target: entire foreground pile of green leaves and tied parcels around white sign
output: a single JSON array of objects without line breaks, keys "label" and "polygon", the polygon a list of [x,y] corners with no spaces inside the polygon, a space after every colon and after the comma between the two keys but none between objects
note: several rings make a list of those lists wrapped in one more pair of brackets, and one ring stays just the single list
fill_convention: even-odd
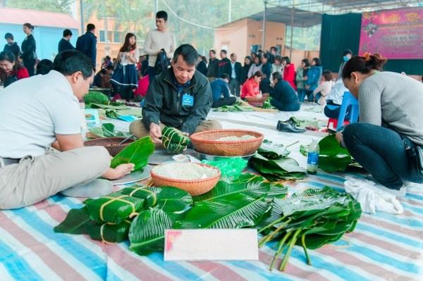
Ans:
[{"label": "entire foreground pile of green leaves and tied parcels around white sign", "polygon": [[104,243],[129,239],[131,251],[148,255],[164,250],[166,229],[255,227],[265,235],[260,246],[278,241],[272,267],[285,253],[283,269],[295,244],[317,249],[353,231],[360,218],[357,201],[329,187],[307,189],[290,199],[286,195],[283,185],[250,174],[220,181],[210,192],[195,197],[175,187],[135,185],[87,199],[54,230],[88,234]]}]

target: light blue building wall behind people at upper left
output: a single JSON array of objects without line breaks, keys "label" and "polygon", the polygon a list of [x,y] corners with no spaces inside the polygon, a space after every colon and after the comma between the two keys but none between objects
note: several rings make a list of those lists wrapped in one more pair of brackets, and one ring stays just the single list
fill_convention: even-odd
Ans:
[{"label": "light blue building wall behind people at upper left", "polygon": [[[65,30],[63,27],[35,26],[35,29],[32,31],[32,35],[35,38],[35,44],[37,46],[36,52],[40,60],[43,58],[54,60],[54,57],[58,52],[57,47],[59,45],[59,41],[63,37],[63,30]],[[71,29],[71,31],[73,33],[71,43],[75,46],[76,39],[78,38],[78,30]],[[25,33],[23,33],[23,25],[0,23],[0,36],[2,39],[4,39],[6,32],[13,34],[15,42],[17,42],[19,46],[22,45],[23,39],[26,37]],[[6,39],[4,39],[3,42],[6,44]],[[0,44],[0,46],[4,45]],[[3,50],[3,48],[0,49],[1,51]]]}]

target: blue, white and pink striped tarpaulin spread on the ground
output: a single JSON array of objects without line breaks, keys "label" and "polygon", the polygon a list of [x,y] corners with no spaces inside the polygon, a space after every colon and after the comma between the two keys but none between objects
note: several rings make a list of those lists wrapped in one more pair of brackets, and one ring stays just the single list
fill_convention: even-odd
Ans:
[{"label": "blue, white and pink striped tarpaulin spread on the ground", "polygon": [[[266,139],[291,144],[290,157],[305,166],[300,144],[312,137],[277,132],[267,127],[231,122],[221,114],[225,128],[263,132]],[[247,113],[244,113],[247,114]],[[257,113],[255,113],[257,114]],[[268,115],[265,119],[269,118]],[[280,117],[280,115],[277,115]],[[274,118],[274,124],[279,119]],[[240,118],[241,120],[242,118]],[[271,121],[269,121],[269,124]],[[343,192],[346,175],[364,178],[365,173],[307,175],[305,180],[286,182],[289,192],[325,185]],[[163,254],[138,256],[128,242],[102,244],[87,235],[55,233],[71,208],[83,206],[79,199],[52,196],[34,206],[0,211],[0,281],[7,280],[422,280],[423,187],[407,190],[399,199],[404,213],[398,216],[362,214],[354,232],[336,243],[310,250],[306,264],[302,248],[295,246],[285,272],[269,271],[274,243],[259,249],[259,261],[164,261]],[[281,263],[278,260],[276,266]],[[277,268],[277,267],[276,267]]]}]

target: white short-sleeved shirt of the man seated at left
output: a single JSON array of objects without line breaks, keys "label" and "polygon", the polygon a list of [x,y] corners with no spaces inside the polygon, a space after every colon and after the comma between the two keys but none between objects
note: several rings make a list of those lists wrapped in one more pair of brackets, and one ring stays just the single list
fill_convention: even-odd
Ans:
[{"label": "white short-sleeved shirt of the man seated at left", "polygon": [[44,155],[56,134],[80,134],[78,99],[68,80],[51,70],[0,92],[0,157]]}]

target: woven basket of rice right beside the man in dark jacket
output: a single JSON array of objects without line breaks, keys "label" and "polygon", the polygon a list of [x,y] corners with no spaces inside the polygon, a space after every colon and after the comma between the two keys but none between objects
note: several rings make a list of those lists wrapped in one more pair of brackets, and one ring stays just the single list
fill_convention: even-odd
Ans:
[{"label": "woven basket of rice right beside the man in dark jacket", "polygon": [[[221,137],[242,137],[252,135],[254,139],[234,141],[218,141]],[[195,150],[202,154],[214,156],[246,156],[254,154],[263,142],[264,135],[261,132],[249,130],[212,130],[197,132],[190,136]]]}]

